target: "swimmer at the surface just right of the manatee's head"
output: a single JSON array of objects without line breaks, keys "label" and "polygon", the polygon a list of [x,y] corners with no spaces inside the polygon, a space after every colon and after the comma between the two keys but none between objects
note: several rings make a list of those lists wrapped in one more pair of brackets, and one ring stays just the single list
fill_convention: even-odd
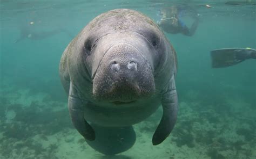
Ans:
[{"label": "swimmer at the surface just right of the manatee's head", "polygon": [[[181,20],[183,12],[188,12],[190,17],[194,20],[190,28],[188,28],[183,20]],[[198,13],[190,6],[171,6],[170,8],[161,9],[160,14],[161,20],[158,21],[158,25],[167,33],[181,33],[187,36],[192,36],[197,30],[199,21]]]}]

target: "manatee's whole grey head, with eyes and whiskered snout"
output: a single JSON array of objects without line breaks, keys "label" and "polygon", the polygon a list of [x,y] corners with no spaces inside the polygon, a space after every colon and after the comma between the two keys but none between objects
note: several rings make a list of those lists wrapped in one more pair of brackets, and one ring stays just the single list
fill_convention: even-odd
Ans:
[{"label": "manatee's whole grey head, with eyes and whiskered snout", "polygon": [[123,104],[154,95],[154,78],[163,66],[166,45],[150,18],[136,11],[113,10],[92,20],[81,35],[93,98]]}]

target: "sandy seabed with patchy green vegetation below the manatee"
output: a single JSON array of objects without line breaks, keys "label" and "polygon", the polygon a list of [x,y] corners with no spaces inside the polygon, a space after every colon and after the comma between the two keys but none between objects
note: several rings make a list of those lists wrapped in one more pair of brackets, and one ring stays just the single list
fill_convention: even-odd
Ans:
[{"label": "sandy seabed with patchy green vegetation below the manatee", "polygon": [[188,91],[179,101],[173,132],[159,146],[151,139],[159,109],[134,125],[134,146],[116,156],[93,150],[71,125],[67,104],[45,93],[4,86],[0,101],[0,158],[256,158],[256,109],[240,98],[200,100]]}]

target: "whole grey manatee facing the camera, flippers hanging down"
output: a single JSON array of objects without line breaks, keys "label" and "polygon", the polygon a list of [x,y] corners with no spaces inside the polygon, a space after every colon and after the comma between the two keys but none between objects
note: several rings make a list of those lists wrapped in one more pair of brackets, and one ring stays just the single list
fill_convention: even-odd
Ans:
[{"label": "whole grey manatee facing the camera, flippers hanging down", "polygon": [[[160,28],[129,9],[111,10],[93,19],[66,47],[59,66],[73,125],[104,154],[129,149],[135,141],[131,126],[160,105],[163,117],[153,145],[167,138],[177,119],[176,71],[176,52]],[[104,132],[104,127],[111,129],[106,133],[116,129],[116,136],[132,142],[119,145],[123,138],[111,139],[104,133],[98,138],[95,130]],[[121,127],[129,129],[127,134],[118,131]],[[106,144],[104,136],[118,142]],[[102,150],[102,145],[112,150]]]}]

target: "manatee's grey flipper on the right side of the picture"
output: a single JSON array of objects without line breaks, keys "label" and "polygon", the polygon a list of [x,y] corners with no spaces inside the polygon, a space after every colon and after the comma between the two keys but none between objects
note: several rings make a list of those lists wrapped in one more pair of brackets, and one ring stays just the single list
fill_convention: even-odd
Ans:
[{"label": "manatee's grey flipper on the right side of the picture", "polygon": [[161,104],[163,106],[163,117],[161,118],[156,132],[154,132],[152,139],[153,145],[157,145],[167,138],[177,120],[178,97],[174,77],[170,80],[169,87],[167,92],[163,95]]}]

